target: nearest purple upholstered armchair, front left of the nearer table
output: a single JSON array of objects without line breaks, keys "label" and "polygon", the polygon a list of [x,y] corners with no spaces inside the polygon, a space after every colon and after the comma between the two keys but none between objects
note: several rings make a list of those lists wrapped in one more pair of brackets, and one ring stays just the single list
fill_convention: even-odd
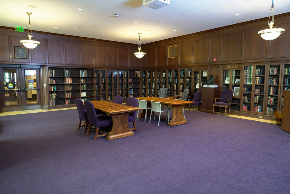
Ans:
[{"label": "nearest purple upholstered armchair, front left of the nearer table", "polygon": [[[85,101],[85,106],[87,110],[88,124],[89,124],[89,130],[88,130],[87,135],[89,135],[91,127],[94,126],[96,127],[96,134],[95,134],[94,140],[96,140],[97,137],[107,136],[108,134],[105,133],[104,131],[99,130],[99,127],[106,127],[106,126],[112,125],[113,124],[112,119],[109,117],[103,117],[103,116],[97,115],[93,103],[90,102],[89,100]],[[103,134],[98,135],[99,131],[101,131]]]}]

